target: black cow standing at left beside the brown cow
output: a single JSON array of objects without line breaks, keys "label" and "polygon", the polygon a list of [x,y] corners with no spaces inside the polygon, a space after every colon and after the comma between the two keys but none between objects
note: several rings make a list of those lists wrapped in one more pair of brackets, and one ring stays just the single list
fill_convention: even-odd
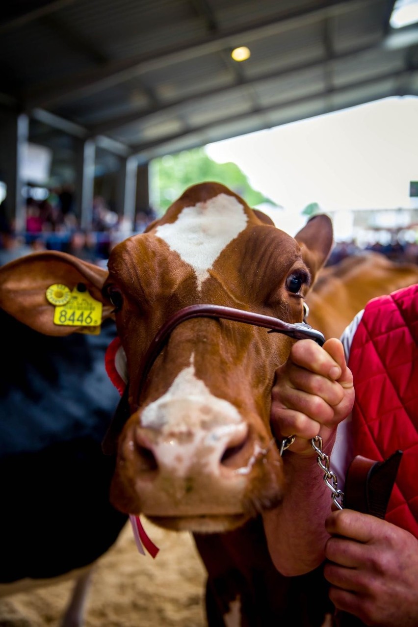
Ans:
[{"label": "black cow standing at left beside the brown cow", "polygon": [[115,324],[46,337],[0,311],[0,326],[0,596],[71,577],[61,625],[80,627],[92,565],[127,522],[101,446],[118,402],[104,362]]}]

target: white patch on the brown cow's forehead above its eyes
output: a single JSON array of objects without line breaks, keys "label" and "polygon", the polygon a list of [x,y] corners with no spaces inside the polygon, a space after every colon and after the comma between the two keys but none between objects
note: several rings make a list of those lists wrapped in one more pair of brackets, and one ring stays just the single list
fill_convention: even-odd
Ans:
[{"label": "white patch on the brown cow's forehead above its eyes", "polygon": [[218,194],[204,203],[184,207],[174,223],[160,225],[155,233],[192,266],[200,290],[209,277],[209,268],[247,222],[244,207],[234,196]]}]

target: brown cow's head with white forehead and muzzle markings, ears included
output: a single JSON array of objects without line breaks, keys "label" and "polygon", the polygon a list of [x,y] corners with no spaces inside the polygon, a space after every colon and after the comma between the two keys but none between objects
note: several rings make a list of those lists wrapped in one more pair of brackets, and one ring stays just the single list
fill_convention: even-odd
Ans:
[{"label": "brown cow's head with white forehead and muzzle markings, ears included", "polygon": [[0,305],[46,334],[51,283],[82,282],[114,316],[127,360],[128,419],[118,437],[113,504],[171,529],[233,529],[283,495],[283,465],[269,428],[276,368],[294,341],[220,318],[176,325],[144,372],[155,334],[197,303],[303,319],[303,298],[332,245],[326,216],[296,238],[224,186],[192,186],[147,232],[117,245],[108,272],[64,253],[0,269]]}]

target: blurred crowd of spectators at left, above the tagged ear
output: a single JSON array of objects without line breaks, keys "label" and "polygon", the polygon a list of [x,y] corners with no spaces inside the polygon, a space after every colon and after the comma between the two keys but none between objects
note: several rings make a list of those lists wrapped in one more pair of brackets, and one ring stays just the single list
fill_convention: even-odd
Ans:
[{"label": "blurred crowd of spectators at left, above the tagged ear", "polygon": [[91,229],[81,229],[74,211],[70,187],[51,192],[47,199],[26,201],[26,229],[16,233],[6,218],[6,206],[0,205],[0,265],[29,253],[58,250],[91,263],[102,264],[119,241],[142,233],[155,212],[138,212],[135,226],[113,211],[102,196],[93,199]]}]

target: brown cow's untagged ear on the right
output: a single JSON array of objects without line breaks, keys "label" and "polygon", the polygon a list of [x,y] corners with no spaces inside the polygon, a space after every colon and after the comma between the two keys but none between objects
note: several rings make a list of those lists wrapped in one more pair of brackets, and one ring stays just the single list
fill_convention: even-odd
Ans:
[{"label": "brown cow's untagged ear on the right", "polygon": [[325,214],[313,216],[295,235],[301,247],[303,261],[310,269],[312,279],[327,261],[333,245],[332,222]]}]

